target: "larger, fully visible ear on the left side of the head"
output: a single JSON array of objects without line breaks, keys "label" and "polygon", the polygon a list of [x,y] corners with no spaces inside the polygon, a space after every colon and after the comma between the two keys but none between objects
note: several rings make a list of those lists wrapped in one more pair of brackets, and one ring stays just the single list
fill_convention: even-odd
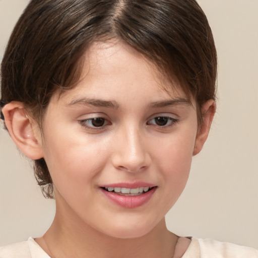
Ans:
[{"label": "larger, fully visible ear on the left side of the head", "polygon": [[2,108],[9,134],[17,147],[30,159],[43,157],[38,124],[26,113],[24,105],[12,101]]}]

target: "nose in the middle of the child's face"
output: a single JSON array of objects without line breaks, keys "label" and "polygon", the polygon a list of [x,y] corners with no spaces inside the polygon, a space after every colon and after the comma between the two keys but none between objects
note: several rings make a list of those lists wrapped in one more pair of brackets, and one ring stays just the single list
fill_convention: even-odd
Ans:
[{"label": "nose in the middle of the child's face", "polygon": [[123,128],[113,142],[112,164],[127,172],[139,172],[150,166],[148,141],[139,128]]}]

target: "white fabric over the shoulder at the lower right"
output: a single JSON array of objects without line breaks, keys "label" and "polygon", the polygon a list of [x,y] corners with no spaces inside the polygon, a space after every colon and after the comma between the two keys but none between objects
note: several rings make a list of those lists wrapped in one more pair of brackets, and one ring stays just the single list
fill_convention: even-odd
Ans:
[{"label": "white fabric over the shoulder at the lower right", "polygon": [[198,238],[192,238],[192,244],[199,249],[201,258],[258,258],[258,250],[247,246]]}]

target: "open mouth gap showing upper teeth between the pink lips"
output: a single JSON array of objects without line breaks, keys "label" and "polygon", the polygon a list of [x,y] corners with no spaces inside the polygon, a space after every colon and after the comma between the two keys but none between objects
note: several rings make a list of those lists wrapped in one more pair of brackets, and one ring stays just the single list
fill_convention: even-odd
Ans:
[{"label": "open mouth gap showing upper teeth between the pink lips", "polygon": [[153,188],[157,188],[157,186],[149,187],[149,186],[141,186],[137,188],[125,188],[125,187],[101,187],[107,192],[115,193],[116,195],[120,196],[140,196],[144,195],[144,193],[147,193],[148,191],[152,190]]}]

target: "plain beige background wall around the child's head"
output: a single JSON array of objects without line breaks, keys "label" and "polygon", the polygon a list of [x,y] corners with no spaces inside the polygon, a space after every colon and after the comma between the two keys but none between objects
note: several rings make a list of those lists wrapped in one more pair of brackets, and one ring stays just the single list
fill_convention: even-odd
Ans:
[{"label": "plain beige background wall around the child's head", "polygon": [[[0,58],[27,0],[0,0]],[[218,112],[184,193],[167,215],[179,235],[258,249],[258,0],[200,0],[219,57]],[[0,245],[41,235],[54,215],[29,162],[0,130]]]}]

